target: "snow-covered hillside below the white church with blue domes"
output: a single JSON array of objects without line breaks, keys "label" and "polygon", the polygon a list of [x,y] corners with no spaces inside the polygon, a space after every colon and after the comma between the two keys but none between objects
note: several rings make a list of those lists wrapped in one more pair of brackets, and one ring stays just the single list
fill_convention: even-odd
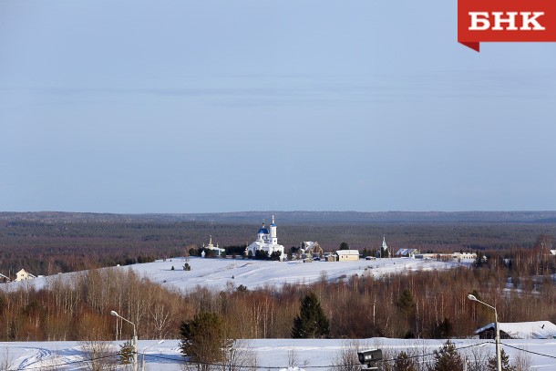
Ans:
[{"label": "snow-covered hillside below the white church with blue domes", "polygon": [[[190,271],[183,270],[185,263],[190,264]],[[242,284],[248,289],[254,289],[265,285],[281,286],[283,283],[314,283],[321,279],[337,281],[340,278],[348,278],[354,274],[372,274],[377,277],[383,274],[403,273],[405,271],[448,269],[458,264],[410,258],[303,263],[303,261],[267,262],[247,259],[191,257],[187,259],[172,258],[166,261],[107,269],[132,269],[149,277],[155,283],[170,285],[181,290],[193,289],[198,285],[213,290],[225,290],[229,284],[233,284],[235,287]],[[74,273],[61,275],[71,274]],[[51,279],[51,277],[38,277],[27,281],[25,284],[34,284],[36,287],[41,287],[48,279]],[[17,284],[21,283],[10,283],[9,285],[14,287]]]}]

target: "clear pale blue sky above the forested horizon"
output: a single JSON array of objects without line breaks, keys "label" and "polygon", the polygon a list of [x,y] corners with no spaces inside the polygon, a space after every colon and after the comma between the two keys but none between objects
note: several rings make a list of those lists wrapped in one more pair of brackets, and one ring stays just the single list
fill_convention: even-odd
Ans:
[{"label": "clear pale blue sky above the forested horizon", "polygon": [[0,211],[556,210],[555,61],[456,0],[0,0]]}]

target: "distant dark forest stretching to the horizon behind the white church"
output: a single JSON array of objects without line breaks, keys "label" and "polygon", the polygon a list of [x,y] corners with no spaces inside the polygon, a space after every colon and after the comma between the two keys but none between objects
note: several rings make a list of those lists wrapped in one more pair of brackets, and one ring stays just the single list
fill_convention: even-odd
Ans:
[{"label": "distant dark forest stretching to the horizon behind the white church", "polygon": [[[276,212],[278,242],[286,250],[317,241],[375,251],[383,236],[392,252],[497,251],[530,248],[540,235],[556,236],[556,212]],[[0,213],[0,273],[21,268],[66,273],[187,255],[209,242],[251,243],[272,213],[118,215],[63,212]],[[368,220],[368,222],[366,222]],[[351,222],[350,222],[351,221]]]}]

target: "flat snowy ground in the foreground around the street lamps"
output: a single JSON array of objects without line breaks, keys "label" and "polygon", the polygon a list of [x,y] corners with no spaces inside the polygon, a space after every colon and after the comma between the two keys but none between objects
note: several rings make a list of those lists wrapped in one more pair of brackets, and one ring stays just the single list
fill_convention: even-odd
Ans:
[{"label": "flat snowy ground in the foreground around the street lamps", "polygon": [[[326,370],[335,363],[335,358],[345,349],[350,340],[338,339],[258,339],[247,343],[249,349],[257,357],[257,370],[287,369],[288,359],[295,355],[297,362],[292,366],[299,369]],[[377,347],[396,355],[406,351],[419,354],[432,354],[444,343],[442,340],[400,340],[400,339],[363,339],[361,345]],[[454,344],[461,348],[461,353],[473,359],[471,352],[494,356],[494,345],[479,339],[455,339]],[[523,353],[510,346],[503,346],[510,356],[510,362],[516,356],[529,355],[530,366],[535,370],[556,370],[556,340],[504,340],[504,344],[526,349],[532,353]],[[121,342],[110,343],[111,350],[116,353]],[[476,345],[476,346],[475,346]],[[465,348],[465,349],[464,349]],[[142,354],[145,356],[145,370],[173,371],[180,370],[183,357],[180,356],[178,340],[167,340],[158,344],[156,340],[139,340],[139,369]],[[520,354],[520,355],[519,355]],[[548,356],[541,356],[548,355]],[[0,343],[0,368],[2,370],[77,370],[87,369],[85,361],[88,354],[83,352],[82,345],[77,342],[43,342],[43,343]],[[118,358],[115,358],[118,359]],[[125,369],[119,366],[118,369]],[[128,366],[128,369],[130,367]]]}]

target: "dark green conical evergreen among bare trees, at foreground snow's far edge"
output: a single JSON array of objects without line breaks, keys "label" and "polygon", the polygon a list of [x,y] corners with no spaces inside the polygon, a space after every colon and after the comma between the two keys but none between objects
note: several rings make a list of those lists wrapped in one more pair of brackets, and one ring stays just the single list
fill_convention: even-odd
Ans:
[{"label": "dark green conical evergreen among bare trees, at foreground snow's far edge", "polygon": [[293,338],[322,338],[329,334],[328,320],[316,294],[305,296],[299,311],[293,320]]}]

